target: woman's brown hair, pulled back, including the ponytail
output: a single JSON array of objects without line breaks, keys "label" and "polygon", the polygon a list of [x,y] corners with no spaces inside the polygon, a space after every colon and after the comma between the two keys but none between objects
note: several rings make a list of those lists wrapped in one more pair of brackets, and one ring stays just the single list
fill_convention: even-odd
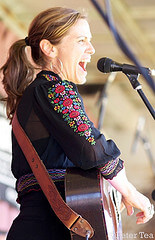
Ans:
[{"label": "woman's brown hair, pulled back, including the ponytail", "polygon": [[25,53],[26,45],[31,47],[31,55],[35,64],[44,68],[47,59],[39,47],[42,39],[49,40],[53,45],[60,43],[70,27],[80,18],[86,18],[80,12],[55,7],[39,13],[32,21],[28,37],[16,41],[9,50],[9,57],[4,66],[3,85],[7,97],[3,100],[7,102],[7,116],[12,120],[13,114],[21,99],[25,88],[32,82],[35,67],[28,61]]}]

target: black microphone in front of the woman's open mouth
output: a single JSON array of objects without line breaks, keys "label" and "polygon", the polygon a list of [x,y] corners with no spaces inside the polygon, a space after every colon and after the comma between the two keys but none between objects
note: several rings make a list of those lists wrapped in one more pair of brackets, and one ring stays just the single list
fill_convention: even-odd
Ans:
[{"label": "black microphone in front of the woman's open mouth", "polygon": [[[138,67],[129,65],[129,64],[121,64],[118,62],[113,61],[110,58],[101,58],[98,60],[97,68],[99,71],[103,73],[109,72],[123,72],[125,74],[141,74],[141,70]],[[142,67],[143,71],[149,75],[155,75],[155,69],[151,70],[150,68]]]}]

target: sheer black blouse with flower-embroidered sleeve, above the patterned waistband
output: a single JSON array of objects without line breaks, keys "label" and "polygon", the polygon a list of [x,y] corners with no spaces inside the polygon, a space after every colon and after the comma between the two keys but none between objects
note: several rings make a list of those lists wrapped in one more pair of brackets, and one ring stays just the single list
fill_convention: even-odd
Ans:
[{"label": "sheer black blouse with flower-embroidered sleeve, above the patterned waistband", "polygon": [[[123,168],[121,160],[114,166],[120,151],[89,120],[76,85],[53,72],[41,71],[26,88],[17,117],[47,169],[111,165],[112,178]],[[12,152],[14,176],[31,173],[13,134]]]}]

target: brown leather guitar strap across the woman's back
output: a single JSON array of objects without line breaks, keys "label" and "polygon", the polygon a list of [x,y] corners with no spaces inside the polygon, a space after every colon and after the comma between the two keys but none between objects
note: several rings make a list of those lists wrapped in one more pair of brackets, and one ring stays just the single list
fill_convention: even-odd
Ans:
[{"label": "brown leather guitar strap across the woman's back", "polygon": [[45,165],[41,161],[25,131],[19,124],[16,113],[12,120],[12,129],[34,176],[57,217],[69,230],[82,237],[91,238],[94,234],[93,228],[85,219],[74,212],[62,199],[54,182],[50,178]]}]

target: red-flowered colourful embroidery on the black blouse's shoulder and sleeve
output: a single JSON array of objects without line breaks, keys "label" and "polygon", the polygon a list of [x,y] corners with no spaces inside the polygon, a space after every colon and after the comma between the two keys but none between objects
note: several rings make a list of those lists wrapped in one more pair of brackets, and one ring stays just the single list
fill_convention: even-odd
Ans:
[{"label": "red-flowered colourful embroidery on the black blouse's shoulder and sleeve", "polygon": [[73,86],[68,81],[58,80],[52,75],[44,74],[43,76],[48,81],[57,80],[57,83],[53,83],[53,86],[48,89],[48,98],[54,105],[54,110],[62,114],[64,121],[74,132],[81,137],[84,136],[91,145],[95,145],[90,121],[81,107],[81,99],[73,90]]}]

